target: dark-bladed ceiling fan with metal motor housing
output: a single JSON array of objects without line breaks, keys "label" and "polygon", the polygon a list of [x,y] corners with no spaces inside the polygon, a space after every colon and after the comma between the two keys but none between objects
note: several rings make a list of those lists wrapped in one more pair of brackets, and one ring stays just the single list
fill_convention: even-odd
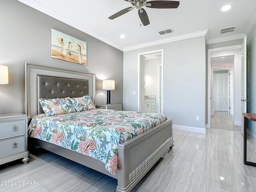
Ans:
[{"label": "dark-bladed ceiling fan with metal motor housing", "polygon": [[148,14],[143,6],[146,6],[148,8],[156,8],[156,9],[176,9],[180,5],[179,1],[149,1],[147,0],[125,0],[127,2],[130,2],[133,7],[125,8],[116,14],[109,17],[109,19],[115,19],[125,13],[128,13],[129,11],[133,10],[134,8],[138,9],[139,17],[144,26],[150,24],[148,19]]}]

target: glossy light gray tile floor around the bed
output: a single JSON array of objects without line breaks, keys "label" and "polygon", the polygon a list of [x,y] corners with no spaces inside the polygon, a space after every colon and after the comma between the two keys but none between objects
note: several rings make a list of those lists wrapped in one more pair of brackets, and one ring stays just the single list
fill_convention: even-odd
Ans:
[{"label": "glossy light gray tile floor around the bed", "polygon": [[[174,130],[174,147],[133,192],[255,192],[256,167],[243,164],[240,132]],[[45,150],[0,166],[0,181],[36,181],[36,186],[0,186],[1,192],[114,192],[117,180]]]}]

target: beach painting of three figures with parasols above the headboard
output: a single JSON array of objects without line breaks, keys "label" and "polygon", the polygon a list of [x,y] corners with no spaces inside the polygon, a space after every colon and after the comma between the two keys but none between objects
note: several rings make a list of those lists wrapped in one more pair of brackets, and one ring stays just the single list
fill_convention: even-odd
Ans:
[{"label": "beach painting of three figures with parasols above the headboard", "polygon": [[52,29],[52,58],[87,65],[86,42]]}]

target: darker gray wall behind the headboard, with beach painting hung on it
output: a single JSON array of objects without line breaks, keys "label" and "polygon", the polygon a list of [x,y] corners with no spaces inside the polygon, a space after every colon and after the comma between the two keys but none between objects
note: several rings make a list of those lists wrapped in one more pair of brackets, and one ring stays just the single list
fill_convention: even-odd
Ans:
[{"label": "darker gray wall behind the headboard, with beach painting hung on it", "polygon": [[[95,73],[96,104],[106,103],[102,80],[116,80],[111,102],[122,104],[122,51],[16,0],[0,0],[0,13],[0,65],[9,67],[9,84],[0,85],[0,113],[23,112],[23,62]],[[51,58],[51,28],[87,42],[88,66]]]}]

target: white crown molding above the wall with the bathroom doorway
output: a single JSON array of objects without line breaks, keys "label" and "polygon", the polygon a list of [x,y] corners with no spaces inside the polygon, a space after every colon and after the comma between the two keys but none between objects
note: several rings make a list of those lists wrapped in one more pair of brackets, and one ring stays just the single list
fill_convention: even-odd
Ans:
[{"label": "white crown molding above the wall with the bathroom doorway", "polygon": [[125,47],[124,51],[130,51],[130,50],[135,50],[135,49],[139,49],[139,48],[174,42],[174,41],[178,41],[178,40],[184,40],[184,39],[188,39],[188,38],[204,36],[204,35],[206,35],[207,32],[208,32],[208,29],[194,32],[194,33],[188,33],[188,34],[184,34],[184,35],[165,38],[165,39],[161,39],[161,40],[156,40],[156,41],[152,41],[152,42],[148,42],[148,43],[142,43],[142,44],[138,44],[138,45],[134,45],[134,46]]}]

